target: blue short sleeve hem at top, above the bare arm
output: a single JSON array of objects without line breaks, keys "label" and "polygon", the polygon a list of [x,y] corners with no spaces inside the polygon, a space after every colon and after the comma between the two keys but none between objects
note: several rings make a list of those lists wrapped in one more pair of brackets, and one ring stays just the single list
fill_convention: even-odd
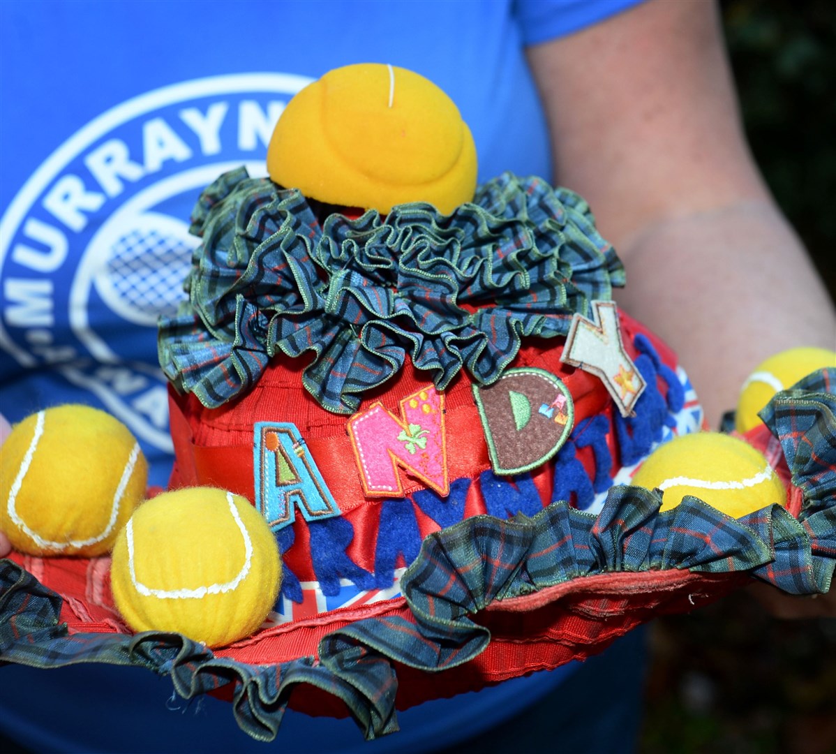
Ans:
[{"label": "blue short sleeve hem at top, above the bare arm", "polygon": [[645,0],[516,0],[523,43],[538,44],[592,26]]}]

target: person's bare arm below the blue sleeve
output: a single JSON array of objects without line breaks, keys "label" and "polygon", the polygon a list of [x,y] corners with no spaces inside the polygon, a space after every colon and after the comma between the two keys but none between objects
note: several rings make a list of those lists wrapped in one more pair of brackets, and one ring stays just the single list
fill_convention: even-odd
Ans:
[{"label": "person's bare arm below the blue sleeve", "polygon": [[627,268],[618,295],[680,354],[712,427],[836,315],[747,148],[714,3],[650,0],[529,49],[555,176],[589,201]]}]

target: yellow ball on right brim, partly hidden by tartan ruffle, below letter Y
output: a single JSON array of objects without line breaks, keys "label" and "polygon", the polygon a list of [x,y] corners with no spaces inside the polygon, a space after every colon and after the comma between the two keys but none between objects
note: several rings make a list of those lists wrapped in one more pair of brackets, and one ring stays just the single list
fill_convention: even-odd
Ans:
[{"label": "yellow ball on right brim, partly hidden by tartan ruffle, below letter Y", "polygon": [[662,491],[665,511],[686,495],[732,518],[772,503],[786,506],[787,491],[760,451],[737,437],[698,432],[675,437],[640,466],[633,484]]}]

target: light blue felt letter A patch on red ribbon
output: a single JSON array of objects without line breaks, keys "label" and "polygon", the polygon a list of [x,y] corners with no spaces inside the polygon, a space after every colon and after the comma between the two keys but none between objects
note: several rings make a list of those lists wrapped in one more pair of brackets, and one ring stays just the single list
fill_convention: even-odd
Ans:
[{"label": "light blue felt letter A patch on red ribbon", "polygon": [[254,430],[255,502],[273,532],[295,521],[296,507],[307,522],[339,516],[339,506],[296,425],[259,421]]}]

